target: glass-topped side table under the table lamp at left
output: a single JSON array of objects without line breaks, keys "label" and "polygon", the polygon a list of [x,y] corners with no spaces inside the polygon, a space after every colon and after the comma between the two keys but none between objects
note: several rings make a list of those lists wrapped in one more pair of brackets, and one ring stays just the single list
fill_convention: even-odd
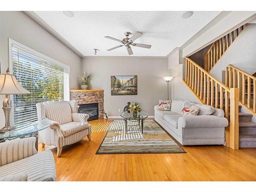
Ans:
[{"label": "glass-topped side table under the table lamp at left", "polygon": [[50,123],[46,122],[33,122],[18,129],[14,129],[5,133],[0,133],[0,142],[5,142],[6,140],[12,140],[16,138],[25,137],[36,137],[36,150],[38,150],[38,132],[46,129],[50,126]]}]

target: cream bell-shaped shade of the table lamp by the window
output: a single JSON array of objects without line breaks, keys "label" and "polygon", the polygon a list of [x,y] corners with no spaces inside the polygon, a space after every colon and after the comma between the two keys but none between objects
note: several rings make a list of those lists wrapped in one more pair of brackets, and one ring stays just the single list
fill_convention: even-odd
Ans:
[{"label": "cream bell-shaped shade of the table lamp by the window", "polygon": [[16,77],[11,74],[0,74],[0,94],[30,94],[29,91],[20,86]]}]

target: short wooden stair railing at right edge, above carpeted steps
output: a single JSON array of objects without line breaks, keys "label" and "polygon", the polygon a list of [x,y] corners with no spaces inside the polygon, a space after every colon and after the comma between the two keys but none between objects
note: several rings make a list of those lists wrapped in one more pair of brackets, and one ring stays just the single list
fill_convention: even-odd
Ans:
[{"label": "short wooden stair railing at right edge, above carpeted steps", "polygon": [[225,84],[229,88],[239,88],[239,101],[251,112],[256,113],[256,77],[228,65]]}]

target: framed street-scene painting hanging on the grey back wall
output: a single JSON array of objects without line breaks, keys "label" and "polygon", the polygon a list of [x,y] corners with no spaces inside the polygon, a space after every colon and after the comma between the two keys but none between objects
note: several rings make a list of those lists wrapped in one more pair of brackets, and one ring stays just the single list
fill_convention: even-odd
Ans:
[{"label": "framed street-scene painting hanging on the grey back wall", "polygon": [[111,76],[111,95],[137,95],[137,75]]}]

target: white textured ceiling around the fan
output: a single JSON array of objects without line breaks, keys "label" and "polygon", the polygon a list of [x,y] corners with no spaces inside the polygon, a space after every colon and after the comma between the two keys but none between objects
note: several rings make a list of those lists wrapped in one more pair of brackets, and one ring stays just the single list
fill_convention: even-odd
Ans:
[{"label": "white textured ceiling around the fan", "polygon": [[83,56],[94,55],[94,48],[99,49],[99,56],[128,56],[125,47],[106,51],[120,43],[104,38],[108,35],[122,39],[125,31],[143,33],[135,42],[152,45],[151,49],[132,47],[132,56],[166,56],[220,12],[195,11],[187,19],[181,17],[184,11],[74,11],[74,17],[62,11],[34,13]]}]

